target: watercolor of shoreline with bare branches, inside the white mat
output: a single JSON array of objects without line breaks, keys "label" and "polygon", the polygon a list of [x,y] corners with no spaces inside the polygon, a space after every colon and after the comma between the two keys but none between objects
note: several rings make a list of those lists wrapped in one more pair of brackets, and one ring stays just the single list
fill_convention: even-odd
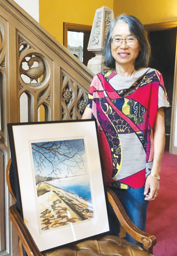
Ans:
[{"label": "watercolor of shoreline with bare branches, inside the white mat", "polygon": [[93,218],[84,139],[32,142],[41,230]]}]

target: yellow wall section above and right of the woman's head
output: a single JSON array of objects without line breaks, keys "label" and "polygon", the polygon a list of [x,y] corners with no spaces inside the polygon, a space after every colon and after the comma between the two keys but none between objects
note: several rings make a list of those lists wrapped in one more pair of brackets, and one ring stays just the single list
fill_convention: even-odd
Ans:
[{"label": "yellow wall section above and right of the woman's head", "polygon": [[177,20],[177,0],[114,0],[114,16],[134,15],[142,24]]}]

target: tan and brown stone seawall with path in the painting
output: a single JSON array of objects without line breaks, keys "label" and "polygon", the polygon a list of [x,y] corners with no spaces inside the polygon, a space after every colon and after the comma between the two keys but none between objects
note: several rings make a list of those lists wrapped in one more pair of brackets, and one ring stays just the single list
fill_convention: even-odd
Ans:
[{"label": "tan and brown stone seawall with path in the painting", "polygon": [[93,218],[92,202],[62,188],[37,185],[42,231]]}]

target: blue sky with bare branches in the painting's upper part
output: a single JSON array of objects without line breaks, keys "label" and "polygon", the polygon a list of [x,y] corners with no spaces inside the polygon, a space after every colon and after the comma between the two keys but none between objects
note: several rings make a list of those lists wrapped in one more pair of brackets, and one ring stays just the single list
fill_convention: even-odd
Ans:
[{"label": "blue sky with bare branches in the painting's upper part", "polygon": [[83,139],[33,142],[31,148],[35,175],[64,178],[88,173]]}]

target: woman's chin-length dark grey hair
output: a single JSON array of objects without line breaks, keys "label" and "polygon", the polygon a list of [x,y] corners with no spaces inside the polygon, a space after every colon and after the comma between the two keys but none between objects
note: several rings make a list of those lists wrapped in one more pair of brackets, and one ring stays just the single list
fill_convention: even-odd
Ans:
[{"label": "woman's chin-length dark grey hair", "polygon": [[102,53],[104,57],[104,65],[108,68],[115,68],[115,59],[112,57],[111,53],[111,39],[112,31],[120,20],[128,24],[130,32],[138,38],[141,46],[141,51],[135,60],[135,69],[146,68],[150,62],[150,44],[146,38],[145,29],[139,19],[135,16],[126,14],[121,14],[110,24],[107,40],[104,44]]}]

